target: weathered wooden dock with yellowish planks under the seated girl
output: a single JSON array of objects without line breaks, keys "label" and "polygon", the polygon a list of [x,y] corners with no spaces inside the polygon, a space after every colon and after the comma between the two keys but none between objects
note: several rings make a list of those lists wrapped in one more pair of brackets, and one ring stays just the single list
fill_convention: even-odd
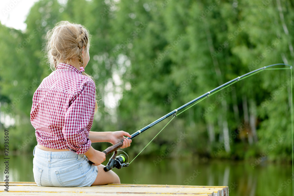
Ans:
[{"label": "weathered wooden dock with yellowish planks under the seated girl", "polygon": [[0,182],[0,195],[201,195],[228,196],[227,186],[108,184],[91,187],[38,187],[35,182]]}]

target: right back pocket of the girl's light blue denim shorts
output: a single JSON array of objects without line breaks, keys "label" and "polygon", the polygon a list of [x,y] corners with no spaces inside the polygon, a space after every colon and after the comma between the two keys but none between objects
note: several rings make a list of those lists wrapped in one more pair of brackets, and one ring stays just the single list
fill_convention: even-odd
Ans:
[{"label": "right back pocket of the girl's light blue denim shorts", "polygon": [[56,171],[55,173],[59,183],[63,187],[78,187],[86,180],[82,163],[65,170]]}]

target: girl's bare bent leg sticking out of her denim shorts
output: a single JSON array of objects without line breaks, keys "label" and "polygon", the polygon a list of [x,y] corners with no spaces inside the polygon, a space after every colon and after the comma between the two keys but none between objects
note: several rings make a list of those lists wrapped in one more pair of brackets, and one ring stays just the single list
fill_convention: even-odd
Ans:
[{"label": "girl's bare bent leg sticking out of her denim shorts", "polygon": [[121,181],[116,173],[112,170],[105,172],[104,165],[98,165],[98,175],[92,185],[120,184]]}]

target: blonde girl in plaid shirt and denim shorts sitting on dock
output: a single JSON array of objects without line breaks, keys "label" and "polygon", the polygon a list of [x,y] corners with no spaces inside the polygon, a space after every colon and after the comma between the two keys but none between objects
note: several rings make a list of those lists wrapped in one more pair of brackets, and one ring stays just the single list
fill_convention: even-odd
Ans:
[{"label": "blonde girl in plaid shirt and denim shorts sitting on dock", "polygon": [[[33,172],[38,186],[81,187],[120,183],[103,170],[105,154],[92,142],[112,144],[131,135],[124,131],[90,131],[97,111],[95,83],[84,73],[89,62],[90,35],[80,24],[58,23],[48,32],[47,57],[53,71],[33,96],[31,124],[38,145]],[[125,138],[123,146],[130,146]],[[86,158],[87,157],[87,158]],[[90,165],[88,160],[94,164]]]}]

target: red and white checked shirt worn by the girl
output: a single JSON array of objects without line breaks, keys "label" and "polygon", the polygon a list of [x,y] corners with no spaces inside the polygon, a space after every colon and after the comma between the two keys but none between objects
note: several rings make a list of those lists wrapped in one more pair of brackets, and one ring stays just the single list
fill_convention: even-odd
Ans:
[{"label": "red and white checked shirt worn by the girl", "polygon": [[86,153],[95,110],[95,83],[77,68],[59,63],[33,97],[31,124],[37,142],[48,148]]}]

